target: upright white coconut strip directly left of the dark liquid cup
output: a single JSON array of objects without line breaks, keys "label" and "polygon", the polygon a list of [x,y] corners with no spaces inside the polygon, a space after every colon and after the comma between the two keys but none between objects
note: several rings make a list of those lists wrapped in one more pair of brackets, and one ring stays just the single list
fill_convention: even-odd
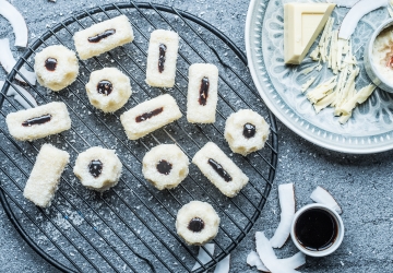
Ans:
[{"label": "upright white coconut strip directly left of the dark liquid cup", "polygon": [[291,222],[295,216],[295,190],[294,183],[278,186],[278,199],[281,206],[279,224],[271,238],[273,248],[282,248],[289,238]]}]

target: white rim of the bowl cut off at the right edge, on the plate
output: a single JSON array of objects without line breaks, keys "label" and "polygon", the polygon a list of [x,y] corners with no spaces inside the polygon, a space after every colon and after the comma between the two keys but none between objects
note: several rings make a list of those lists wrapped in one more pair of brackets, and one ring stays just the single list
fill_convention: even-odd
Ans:
[{"label": "white rim of the bowl cut off at the right edge, on the plate", "polygon": [[[386,20],[383,22],[372,34],[369,43],[367,44],[365,50],[365,68],[370,80],[381,90],[384,90],[389,93],[393,93],[393,84],[388,82],[384,76],[378,71],[372,60],[372,49],[377,36],[385,28],[393,26],[393,19]],[[393,71],[392,71],[393,72]]]}]

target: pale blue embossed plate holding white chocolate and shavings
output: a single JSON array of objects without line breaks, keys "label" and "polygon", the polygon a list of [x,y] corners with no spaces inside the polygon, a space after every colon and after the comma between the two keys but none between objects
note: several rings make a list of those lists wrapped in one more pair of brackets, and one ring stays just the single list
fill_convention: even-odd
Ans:
[{"label": "pale blue embossed plate holding white chocolate and shavings", "polygon": [[[354,110],[353,117],[344,126],[333,116],[332,108],[315,114],[312,105],[300,92],[300,85],[311,76],[317,76],[310,87],[312,88],[331,78],[333,73],[324,64],[320,72],[313,71],[303,75],[301,72],[305,69],[315,64],[309,57],[300,66],[284,64],[285,2],[290,0],[251,0],[248,10],[247,58],[252,79],[264,103],[295,133],[322,147],[353,154],[377,153],[393,149],[392,94],[377,88],[366,103]],[[346,8],[335,8],[333,12],[335,28],[340,27],[337,22],[341,22],[347,12]],[[353,50],[360,67],[360,74],[356,80],[357,90],[371,83],[362,64],[365,45],[373,29],[388,19],[388,10],[378,9],[359,22],[352,36]]]}]

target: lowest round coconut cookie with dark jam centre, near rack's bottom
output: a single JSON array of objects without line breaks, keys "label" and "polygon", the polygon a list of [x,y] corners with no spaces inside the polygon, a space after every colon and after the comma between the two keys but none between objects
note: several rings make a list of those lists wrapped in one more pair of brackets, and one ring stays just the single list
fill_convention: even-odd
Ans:
[{"label": "lowest round coconut cookie with dark jam centre, near rack's bottom", "polygon": [[203,246],[216,237],[219,216],[206,202],[191,201],[184,204],[176,217],[178,235],[189,245]]}]

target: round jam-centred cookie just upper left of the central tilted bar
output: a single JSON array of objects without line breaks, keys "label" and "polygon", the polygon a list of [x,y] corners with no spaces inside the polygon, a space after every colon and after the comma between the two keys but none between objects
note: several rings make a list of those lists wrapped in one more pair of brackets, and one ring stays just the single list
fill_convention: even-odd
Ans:
[{"label": "round jam-centred cookie just upper left of the central tilted bar", "polygon": [[88,100],[104,112],[120,109],[130,98],[130,79],[117,68],[94,71],[86,84]]}]

